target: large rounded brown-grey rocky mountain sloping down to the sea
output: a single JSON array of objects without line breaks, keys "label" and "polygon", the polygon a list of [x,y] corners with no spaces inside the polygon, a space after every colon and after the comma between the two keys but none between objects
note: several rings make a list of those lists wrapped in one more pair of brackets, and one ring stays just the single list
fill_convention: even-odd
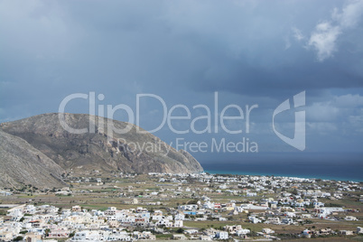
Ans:
[{"label": "large rounded brown-grey rocky mountain sloping down to the sea", "polygon": [[[4,123],[1,129],[23,138],[64,169],[138,173],[203,171],[191,154],[176,151],[150,133],[137,133],[134,125],[79,114],[64,114],[64,118],[68,126],[77,129],[88,128],[91,122],[95,132],[71,134],[61,126],[59,114],[44,114]],[[132,129],[123,135],[109,135],[107,123],[111,121],[118,129],[127,125]]]}]

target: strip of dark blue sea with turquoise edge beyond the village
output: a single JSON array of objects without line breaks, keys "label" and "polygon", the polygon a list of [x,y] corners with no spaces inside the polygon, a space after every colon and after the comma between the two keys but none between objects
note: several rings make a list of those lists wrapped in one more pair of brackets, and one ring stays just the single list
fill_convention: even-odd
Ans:
[{"label": "strip of dark blue sea with turquoise edge beyond the village", "polygon": [[363,153],[260,153],[200,161],[205,172],[363,181]]}]

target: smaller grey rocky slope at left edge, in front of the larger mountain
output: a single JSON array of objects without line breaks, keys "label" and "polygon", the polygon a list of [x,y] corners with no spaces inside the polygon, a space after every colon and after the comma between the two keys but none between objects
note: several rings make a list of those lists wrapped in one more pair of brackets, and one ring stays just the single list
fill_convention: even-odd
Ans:
[{"label": "smaller grey rocky slope at left edge, in front of the larger mountain", "polygon": [[0,187],[66,186],[61,180],[64,170],[25,140],[0,130]]}]

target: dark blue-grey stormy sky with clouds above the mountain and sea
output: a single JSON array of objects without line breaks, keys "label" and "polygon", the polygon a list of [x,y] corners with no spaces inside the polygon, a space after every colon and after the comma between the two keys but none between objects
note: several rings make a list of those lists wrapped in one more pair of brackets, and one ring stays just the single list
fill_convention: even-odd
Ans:
[{"label": "dark blue-grey stormy sky with clouds above the mountain and sea", "polygon": [[[161,126],[154,135],[199,160],[239,159],[248,149],[211,147],[244,138],[258,153],[362,152],[362,0],[0,1],[0,34],[0,122],[58,112],[67,96],[94,92],[105,110],[130,107],[131,119],[121,109],[112,117],[135,123],[137,95],[153,94],[159,99],[139,98],[138,125]],[[304,105],[294,108],[302,92]],[[163,124],[160,99],[172,116],[188,109],[191,118]],[[275,116],[274,130],[286,99],[291,108]],[[221,124],[228,105],[224,116],[242,110],[244,118]],[[208,114],[200,106],[210,122],[192,122]],[[65,111],[89,113],[88,100],[73,99]],[[293,138],[302,127],[295,111],[305,112],[302,150],[275,134]],[[209,147],[193,152],[188,142]]]}]

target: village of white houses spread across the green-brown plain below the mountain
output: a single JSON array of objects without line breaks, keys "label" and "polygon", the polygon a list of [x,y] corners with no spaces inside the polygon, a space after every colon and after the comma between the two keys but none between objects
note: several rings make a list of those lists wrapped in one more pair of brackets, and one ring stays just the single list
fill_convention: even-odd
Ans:
[{"label": "village of white houses spread across the green-brown plain below the mountain", "polygon": [[363,238],[355,181],[98,171],[64,181],[1,190],[0,241]]}]

